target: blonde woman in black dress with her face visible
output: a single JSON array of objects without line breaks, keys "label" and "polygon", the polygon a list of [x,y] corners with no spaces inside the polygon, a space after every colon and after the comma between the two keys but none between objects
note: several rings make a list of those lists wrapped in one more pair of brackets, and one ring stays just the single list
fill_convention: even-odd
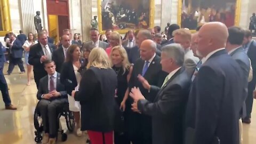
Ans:
[{"label": "blonde woman in black dress with her face visible", "polygon": [[[125,102],[129,95],[128,82],[130,81],[132,74],[132,65],[130,64],[127,53],[122,46],[115,46],[112,48],[110,59],[112,68],[116,71],[117,74],[117,89],[115,93],[115,100],[118,108],[115,118],[115,127],[124,127],[123,130],[115,129],[115,143],[125,144],[129,143],[125,133],[128,128],[126,123]],[[122,113],[122,111],[124,111],[124,113]],[[122,120],[122,117],[124,117],[124,121]]]}]

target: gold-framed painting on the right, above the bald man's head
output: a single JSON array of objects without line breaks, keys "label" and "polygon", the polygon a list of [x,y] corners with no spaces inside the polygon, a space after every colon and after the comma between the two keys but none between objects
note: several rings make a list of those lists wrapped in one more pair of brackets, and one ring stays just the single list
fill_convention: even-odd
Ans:
[{"label": "gold-framed painting on the right, above the bald man's head", "polygon": [[238,26],[240,10],[241,0],[179,0],[178,24],[190,30],[211,21]]}]

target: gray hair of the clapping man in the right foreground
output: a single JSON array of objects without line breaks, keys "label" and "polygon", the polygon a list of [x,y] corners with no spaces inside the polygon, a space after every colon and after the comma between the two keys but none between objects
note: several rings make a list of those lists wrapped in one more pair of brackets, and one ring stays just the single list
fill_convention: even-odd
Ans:
[{"label": "gray hair of the clapping man in the right foreground", "polygon": [[162,47],[162,52],[172,58],[178,66],[183,66],[185,50],[180,44],[169,44]]}]

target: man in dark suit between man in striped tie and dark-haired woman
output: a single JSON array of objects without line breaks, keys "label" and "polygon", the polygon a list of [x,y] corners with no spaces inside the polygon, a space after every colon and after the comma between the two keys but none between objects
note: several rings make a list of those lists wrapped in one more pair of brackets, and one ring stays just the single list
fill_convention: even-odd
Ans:
[{"label": "man in dark suit between man in striped tie and dark-haired woman", "polygon": [[55,62],[56,71],[61,72],[62,64],[67,57],[68,47],[70,45],[70,39],[68,35],[63,35],[60,39],[61,45],[56,51],[52,53],[52,60]]}]

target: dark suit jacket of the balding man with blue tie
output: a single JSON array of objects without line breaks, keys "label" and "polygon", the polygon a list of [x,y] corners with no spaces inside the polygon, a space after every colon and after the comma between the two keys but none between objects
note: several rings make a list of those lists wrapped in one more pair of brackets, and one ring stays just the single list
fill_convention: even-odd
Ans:
[{"label": "dark suit jacket of the balding man with blue tie", "polygon": [[[156,55],[153,61],[150,63],[144,77],[150,85],[156,85],[161,87],[167,73],[162,71],[162,66],[160,64],[161,59]],[[141,93],[149,101],[153,102],[156,95],[149,94],[148,90],[144,89],[142,84],[138,81],[137,76],[142,74],[142,69],[144,67],[145,61],[138,59],[133,66],[133,71],[129,81],[129,90],[131,91],[132,87],[139,87]],[[143,139],[146,141],[151,141],[151,117],[147,115],[141,115],[131,111],[130,107],[133,103],[133,99],[130,97],[127,99],[127,110],[129,113],[129,137],[138,137],[140,133],[143,134]]]}]

